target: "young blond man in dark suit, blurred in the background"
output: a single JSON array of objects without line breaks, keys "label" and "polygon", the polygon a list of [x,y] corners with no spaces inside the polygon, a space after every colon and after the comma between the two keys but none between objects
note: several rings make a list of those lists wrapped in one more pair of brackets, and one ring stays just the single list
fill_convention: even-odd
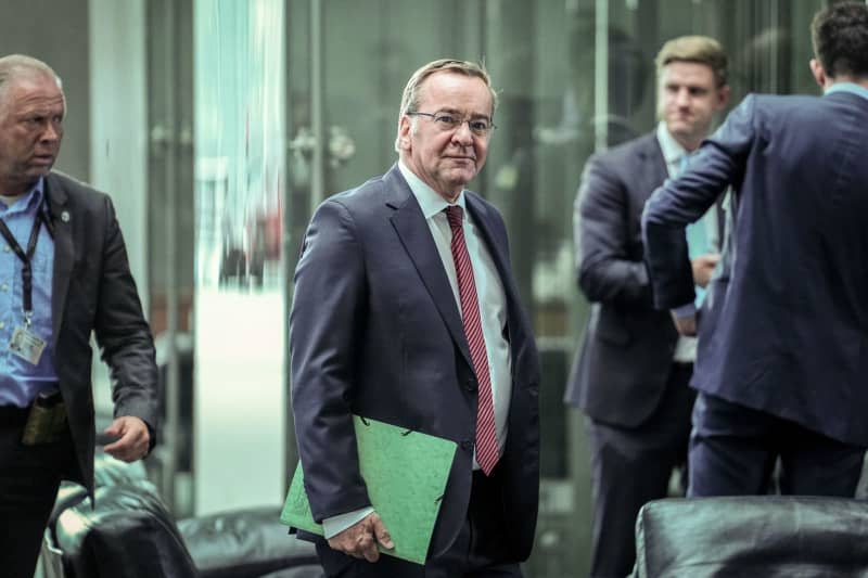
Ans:
[{"label": "young blond man in dark suit, blurred in the background", "polygon": [[[565,400],[588,416],[596,578],[630,573],[636,515],[667,494],[690,432],[695,344],[679,341],[668,316],[653,308],[639,219],[651,192],[680,170],[726,105],[727,57],[715,40],[687,36],[666,42],[656,65],[656,130],[593,155],[575,204],[578,285],[592,305]],[[699,232],[719,237],[720,220],[710,211]],[[704,286],[716,243],[706,239],[693,249],[693,282]]]}]

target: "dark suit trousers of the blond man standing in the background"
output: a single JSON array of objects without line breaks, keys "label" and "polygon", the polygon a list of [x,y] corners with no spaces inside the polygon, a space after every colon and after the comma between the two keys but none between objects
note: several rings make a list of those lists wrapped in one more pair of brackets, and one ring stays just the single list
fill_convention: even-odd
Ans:
[{"label": "dark suit trousers of the blond man standing in the background", "polygon": [[[592,578],[623,578],[636,562],[636,516],[668,496],[673,470],[687,462],[692,364],[673,363],[658,408],[637,427],[588,419],[593,527]],[[625,402],[629,402],[628,400]]]}]

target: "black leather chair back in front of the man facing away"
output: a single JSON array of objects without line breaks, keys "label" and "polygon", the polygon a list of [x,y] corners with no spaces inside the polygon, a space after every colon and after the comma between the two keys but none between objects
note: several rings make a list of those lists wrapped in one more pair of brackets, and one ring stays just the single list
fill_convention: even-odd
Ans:
[{"label": "black leather chair back in front of the man facing away", "polygon": [[671,498],[636,522],[634,578],[868,577],[868,502]]}]

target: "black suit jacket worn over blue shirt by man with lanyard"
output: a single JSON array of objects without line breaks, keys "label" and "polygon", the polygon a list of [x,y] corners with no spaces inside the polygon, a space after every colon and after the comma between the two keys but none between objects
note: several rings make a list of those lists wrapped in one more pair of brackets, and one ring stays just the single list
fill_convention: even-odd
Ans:
[{"label": "black suit jacket worn over blue shirt by man with lanyard", "polygon": [[54,237],[51,345],[76,451],[71,477],[92,494],[91,333],[111,369],[115,416],[144,420],[152,444],[157,383],[154,344],[111,198],[58,172],[50,172],[44,184]]}]

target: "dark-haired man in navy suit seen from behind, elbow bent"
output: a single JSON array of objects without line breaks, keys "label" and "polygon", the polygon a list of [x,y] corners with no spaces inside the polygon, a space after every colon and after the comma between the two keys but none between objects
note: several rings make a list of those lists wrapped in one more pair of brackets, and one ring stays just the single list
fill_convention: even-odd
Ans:
[{"label": "dark-haired man in navy suit seen from behind, elbow bent", "polygon": [[[654,304],[694,334],[690,496],[853,497],[868,446],[868,7],[819,12],[825,95],[749,95],[649,201]],[[730,240],[697,323],[685,226],[732,187]]]}]

